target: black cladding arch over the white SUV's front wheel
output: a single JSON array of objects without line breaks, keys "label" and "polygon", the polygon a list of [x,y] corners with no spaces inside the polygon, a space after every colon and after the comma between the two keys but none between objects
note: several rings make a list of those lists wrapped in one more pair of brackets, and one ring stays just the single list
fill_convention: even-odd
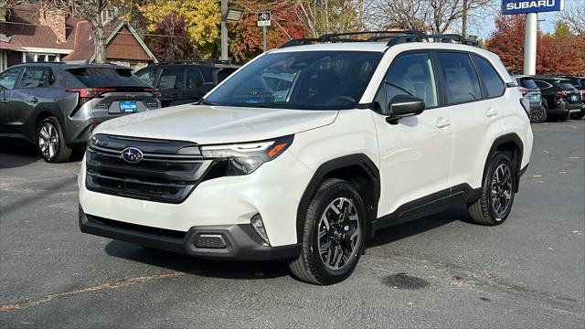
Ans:
[{"label": "black cladding arch over the white SUV's front wheel", "polygon": [[362,197],[367,211],[367,237],[372,237],[372,222],[378,214],[380,175],[376,164],[366,154],[350,154],[321,164],[306,186],[296,214],[297,241],[303,241],[306,208],[322,182],[328,178],[343,179],[354,186]]}]

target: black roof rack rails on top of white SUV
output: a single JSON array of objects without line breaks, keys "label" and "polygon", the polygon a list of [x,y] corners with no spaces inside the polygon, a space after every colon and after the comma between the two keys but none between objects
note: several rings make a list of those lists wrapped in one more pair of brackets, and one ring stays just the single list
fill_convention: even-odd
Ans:
[{"label": "black roof rack rails on top of white SUV", "polygon": [[[367,38],[352,38],[354,36],[375,35]],[[314,43],[335,43],[335,42],[375,42],[388,40],[388,47],[396,46],[407,42],[445,42],[460,43],[462,45],[481,48],[479,40],[462,37],[457,34],[430,35],[420,31],[362,31],[346,33],[329,33],[321,37],[291,39],[279,48],[311,45]]]}]

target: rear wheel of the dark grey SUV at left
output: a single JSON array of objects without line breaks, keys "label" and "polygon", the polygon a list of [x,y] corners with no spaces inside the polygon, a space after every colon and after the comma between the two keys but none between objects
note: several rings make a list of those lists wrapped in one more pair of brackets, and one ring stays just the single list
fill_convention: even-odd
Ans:
[{"label": "rear wheel of the dark grey SUV at left", "polygon": [[38,152],[48,163],[60,163],[69,160],[73,150],[65,144],[63,130],[57,118],[48,117],[37,124]]}]

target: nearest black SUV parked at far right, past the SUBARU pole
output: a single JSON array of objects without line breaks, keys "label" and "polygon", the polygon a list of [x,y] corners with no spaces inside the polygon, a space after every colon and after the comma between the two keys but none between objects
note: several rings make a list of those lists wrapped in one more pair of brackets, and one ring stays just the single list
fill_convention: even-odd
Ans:
[{"label": "nearest black SUV parked at far right, past the SUBARU pole", "polygon": [[570,80],[535,76],[534,81],[545,100],[548,118],[565,120],[569,118],[569,113],[581,111],[579,90],[570,84]]}]

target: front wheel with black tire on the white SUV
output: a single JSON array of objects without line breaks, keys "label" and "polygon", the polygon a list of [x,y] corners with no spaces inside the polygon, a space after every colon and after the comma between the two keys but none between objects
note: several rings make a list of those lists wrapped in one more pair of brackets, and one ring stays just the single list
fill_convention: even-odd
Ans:
[{"label": "front wheel with black tire on the white SUV", "polygon": [[[338,203],[335,205],[336,201]],[[335,212],[339,210],[341,213],[337,215]],[[326,225],[322,218],[325,218]],[[334,224],[335,220],[340,220],[339,224]],[[355,238],[351,239],[350,233]],[[361,196],[346,181],[328,179],[319,186],[307,208],[303,250],[298,258],[290,260],[291,271],[299,280],[314,284],[327,285],[344,281],[356,269],[364,249],[365,237],[366,207]],[[324,246],[327,246],[323,249],[326,251],[322,253]]]}]

